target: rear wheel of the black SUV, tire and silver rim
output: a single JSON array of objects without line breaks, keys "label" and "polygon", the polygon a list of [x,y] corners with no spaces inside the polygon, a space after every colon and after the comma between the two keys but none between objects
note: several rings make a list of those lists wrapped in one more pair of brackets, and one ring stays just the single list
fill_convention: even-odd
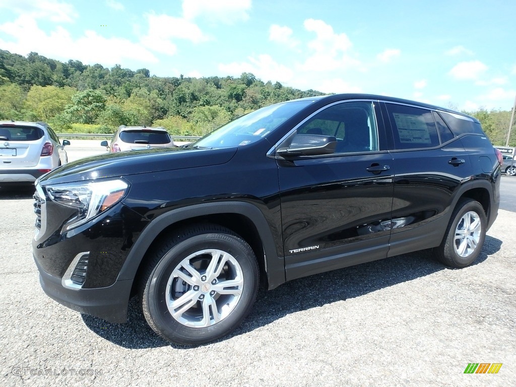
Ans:
[{"label": "rear wheel of the black SUV, tire and silver rim", "polygon": [[455,268],[471,265],[480,254],[486,229],[486,213],[480,203],[473,199],[459,200],[451,214],[443,241],[436,248],[439,261]]}]

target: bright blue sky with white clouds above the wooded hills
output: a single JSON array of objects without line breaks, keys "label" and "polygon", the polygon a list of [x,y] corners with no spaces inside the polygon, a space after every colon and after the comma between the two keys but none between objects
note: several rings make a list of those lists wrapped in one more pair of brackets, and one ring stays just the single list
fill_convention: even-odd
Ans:
[{"label": "bright blue sky with white clouds above the wooded hills", "polygon": [[515,18],[509,0],[0,0],[0,49],[510,110]]}]

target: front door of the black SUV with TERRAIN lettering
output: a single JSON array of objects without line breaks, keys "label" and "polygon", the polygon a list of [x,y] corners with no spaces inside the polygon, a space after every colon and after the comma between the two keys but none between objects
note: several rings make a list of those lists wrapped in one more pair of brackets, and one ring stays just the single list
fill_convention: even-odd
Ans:
[{"label": "front door of the black SUV with TERRAIN lettering", "polygon": [[287,279],[356,264],[361,251],[362,262],[386,256],[394,164],[372,106],[342,103],[298,128],[335,136],[338,153],[278,160]]}]

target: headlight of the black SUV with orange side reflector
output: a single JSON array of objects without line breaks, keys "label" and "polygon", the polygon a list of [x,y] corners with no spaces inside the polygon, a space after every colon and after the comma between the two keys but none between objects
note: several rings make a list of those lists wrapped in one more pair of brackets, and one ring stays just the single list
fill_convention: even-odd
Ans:
[{"label": "headlight of the black SUV with orange side reflector", "polygon": [[65,183],[46,187],[53,202],[74,208],[78,214],[67,222],[63,231],[71,230],[118,203],[129,185],[123,180],[105,180],[91,183]]}]

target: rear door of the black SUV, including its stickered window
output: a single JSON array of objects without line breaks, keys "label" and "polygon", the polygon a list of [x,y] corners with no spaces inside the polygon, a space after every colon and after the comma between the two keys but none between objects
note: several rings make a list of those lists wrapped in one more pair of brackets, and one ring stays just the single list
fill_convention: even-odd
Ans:
[{"label": "rear door of the black SUV, including its stickered window", "polygon": [[[385,105],[396,148],[391,152],[396,170],[392,256],[441,243],[453,192],[470,175],[471,165],[460,140],[445,137],[447,128],[438,131],[431,110]],[[442,141],[448,142],[441,146]]]}]

